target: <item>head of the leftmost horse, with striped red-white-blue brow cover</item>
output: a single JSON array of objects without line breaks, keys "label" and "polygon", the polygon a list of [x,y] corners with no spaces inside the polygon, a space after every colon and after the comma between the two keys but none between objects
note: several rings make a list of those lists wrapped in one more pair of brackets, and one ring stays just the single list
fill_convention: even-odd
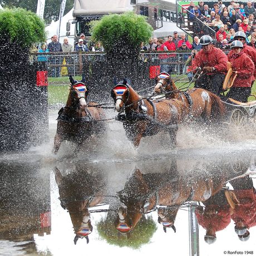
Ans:
[{"label": "head of the leftmost horse, with striped red-white-blue brow cover", "polygon": [[72,103],[77,105],[78,109],[81,111],[85,111],[87,106],[85,99],[88,95],[88,90],[85,86],[84,76],[81,81],[75,81],[73,80],[73,77],[70,76],[70,83],[70,95]]}]

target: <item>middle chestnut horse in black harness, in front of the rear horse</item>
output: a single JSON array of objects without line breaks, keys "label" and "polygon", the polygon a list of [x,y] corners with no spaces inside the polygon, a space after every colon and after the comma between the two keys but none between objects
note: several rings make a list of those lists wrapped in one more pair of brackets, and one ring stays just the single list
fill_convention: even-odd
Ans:
[{"label": "middle chestnut horse in black harness, in front of the rear horse", "polygon": [[142,137],[156,135],[160,131],[169,132],[171,146],[176,146],[178,124],[185,121],[189,112],[184,102],[142,99],[126,80],[116,85],[111,96],[116,111],[119,114],[125,112],[123,126],[135,147],[139,146]]}]

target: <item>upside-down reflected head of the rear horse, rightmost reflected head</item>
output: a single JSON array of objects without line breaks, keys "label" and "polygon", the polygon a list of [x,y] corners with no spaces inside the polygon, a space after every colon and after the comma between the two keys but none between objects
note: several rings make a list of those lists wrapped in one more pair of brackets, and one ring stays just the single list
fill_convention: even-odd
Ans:
[{"label": "upside-down reflected head of the rear horse, rightmost reflected head", "polygon": [[172,228],[176,233],[176,228],[174,227],[174,221],[176,219],[178,210],[179,210],[179,206],[177,205],[160,207],[157,209],[158,223],[163,225],[165,233],[166,233],[166,228]]}]

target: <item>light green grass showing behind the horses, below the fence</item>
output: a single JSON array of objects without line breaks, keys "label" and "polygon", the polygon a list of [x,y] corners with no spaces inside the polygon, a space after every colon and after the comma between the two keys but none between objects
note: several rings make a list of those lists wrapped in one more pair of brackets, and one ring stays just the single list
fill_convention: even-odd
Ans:
[{"label": "light green grass showing behind the horses, below the fence", "polygon": [[[76,79],[81,80],[82,77],[76,77]],[[66,104],[70,88],[70,81],[68,80],[68,77],[49,77],[48,83],[49,85],[54,85],[48,86],[48,104]],[[184,83],[185,82],[175,82],[178,88],[183,87]],[[188,83],[186,83],[186,86],[188,86]],[[194,84],[192,83],[190,87],[194,87]],[[256,95],[255,83],[252,88],[252,94]],[[255,97],[253,96],[248,98],[248,101],[254,100]]]}]

